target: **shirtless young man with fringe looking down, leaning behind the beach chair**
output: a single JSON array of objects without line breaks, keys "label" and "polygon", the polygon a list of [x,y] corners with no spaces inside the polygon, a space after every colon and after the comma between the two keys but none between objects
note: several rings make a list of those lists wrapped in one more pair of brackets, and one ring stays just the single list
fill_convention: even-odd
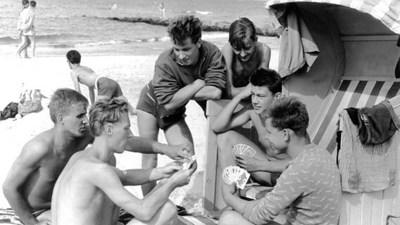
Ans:
[{"label": "shirtless young man with fringe looking down, leaning behind the beach chair", "polygon": [[227,66],[227,98],[233,98],[249,85],[254,70],[269,68],[271,49],[257,41],[256,28],[248,18],[239,18],[230,25],[228,40],[222,53]]}]

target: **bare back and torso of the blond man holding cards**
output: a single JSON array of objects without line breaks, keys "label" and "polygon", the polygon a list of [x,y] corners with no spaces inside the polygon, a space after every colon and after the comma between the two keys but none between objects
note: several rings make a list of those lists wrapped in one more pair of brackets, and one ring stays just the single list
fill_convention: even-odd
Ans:
[{"label": "bare back and torso of the blond man holding cards", "polygon": [[111,167],[89,157],[87,150],[73,155],[54,187],[53,224],[115,224],[120,208],[92,183],[93,172]]}]

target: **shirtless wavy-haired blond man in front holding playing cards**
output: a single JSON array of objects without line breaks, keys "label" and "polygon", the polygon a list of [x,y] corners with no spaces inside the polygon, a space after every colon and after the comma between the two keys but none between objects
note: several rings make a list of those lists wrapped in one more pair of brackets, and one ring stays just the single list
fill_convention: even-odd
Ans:
[{"label": "shirtless wavy-haired blond man in front holding playing cards", "polygon": [[[118,98],[96,102],[89,112],[92,147],[70,159],[54,187],[53,224],[115,225],[120,207],[135,216],[129,224],[175,224],[177,211],[168,200],[177,187],[189,183],[192,169],[167,165],[155,169],[115,168],[114,153],[123,153],[130,131],[127,103]],[[169,178],[169,179],[165,179]],[[163,179],[145,198],[123,186]]]}]

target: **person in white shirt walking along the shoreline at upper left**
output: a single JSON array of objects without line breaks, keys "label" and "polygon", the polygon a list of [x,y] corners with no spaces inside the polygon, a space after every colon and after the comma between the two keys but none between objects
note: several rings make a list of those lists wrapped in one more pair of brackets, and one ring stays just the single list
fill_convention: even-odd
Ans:
[{"label": "person in white shirt walking along the shoreline at upper left", "polygon": [[27,48],[28,39],[32,44],[32,57],[35,57],[35,27],[33,25],[33,20],[35,20],[35,8],[36,1],[30,1],[29,7],[23,10],[20,14],[20,35],[21,35],[21,43],[17,48],[17,57],[19,58],[21,51]]}]

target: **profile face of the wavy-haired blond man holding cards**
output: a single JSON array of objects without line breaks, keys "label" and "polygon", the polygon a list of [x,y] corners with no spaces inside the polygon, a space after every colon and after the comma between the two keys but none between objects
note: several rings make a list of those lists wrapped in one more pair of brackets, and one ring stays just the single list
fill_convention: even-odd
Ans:
[{"label": "profile face of the wavy-haired blond man holding cards", "polygon": [[133,134],[130,130],[130,119],[127,113],[121,115],[120,121],[112,124],[113,135],[112,144],[115,146],[116,153],[123,153],[125,146],[127,145],[127,140],[130,139]]}]

